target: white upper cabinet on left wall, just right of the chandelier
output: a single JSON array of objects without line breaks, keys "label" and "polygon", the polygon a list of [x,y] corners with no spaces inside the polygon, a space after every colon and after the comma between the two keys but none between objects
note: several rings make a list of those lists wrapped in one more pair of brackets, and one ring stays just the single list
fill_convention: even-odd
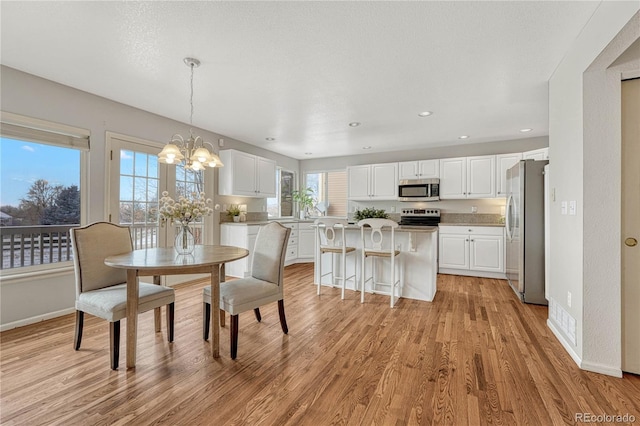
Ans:
[{"label": "white upper cabinet on left wall, just right of the chandelier", "polygon": [[218,194],[269,198],[276,196],[276,162],[235,149],[220,151]]}]

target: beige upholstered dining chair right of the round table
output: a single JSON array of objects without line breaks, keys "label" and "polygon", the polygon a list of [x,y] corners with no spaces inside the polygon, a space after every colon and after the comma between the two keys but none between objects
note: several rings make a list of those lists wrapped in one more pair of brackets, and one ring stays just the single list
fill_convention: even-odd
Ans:
[{"label": "beige upholstered dining chair right of the round table", "polygon": [[[284,334],[289,333],[284,314],[284,258],[289,241],[290,228],[277,222],[264,225],[258,231],[253,248],[251,276],[238,280],[220,283],[220,309],[229,312],[231,324],[229,335],[231,340],[231,359],[238,354],[238,315],[253,309],[258,322],[262,320],[260,306],[278,302],[280,326]],[[203,337],[209,338],[211,319],[211,286],[205,287],[203,301]],[[217,311],[213,312],[218,314]]]}]

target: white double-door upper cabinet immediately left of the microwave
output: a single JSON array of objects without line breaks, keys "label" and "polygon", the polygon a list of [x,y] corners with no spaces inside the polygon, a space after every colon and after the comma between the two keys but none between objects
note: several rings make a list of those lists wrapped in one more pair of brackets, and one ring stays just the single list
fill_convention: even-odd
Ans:
[{"label": "white double-door upper cabinet immediately left of the microwave", "polygon": [[398,163],[366,164],[347,168],[350,200],[398,198]]}]

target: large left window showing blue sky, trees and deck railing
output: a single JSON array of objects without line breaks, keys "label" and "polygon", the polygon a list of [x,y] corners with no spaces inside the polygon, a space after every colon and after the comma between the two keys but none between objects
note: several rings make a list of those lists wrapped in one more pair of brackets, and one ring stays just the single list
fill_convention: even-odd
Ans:
[{"label": "large left window showing blue sky, trees and deck railing", "polygon": [[1,125],[0,269],[70,262],[69,229],[85,214],[89,132],[4,112]]}]

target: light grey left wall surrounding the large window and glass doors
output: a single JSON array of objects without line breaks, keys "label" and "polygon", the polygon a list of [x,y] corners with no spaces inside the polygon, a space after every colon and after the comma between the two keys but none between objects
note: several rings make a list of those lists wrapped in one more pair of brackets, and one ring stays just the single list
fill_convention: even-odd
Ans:
[{"label": "light grey left wall surrounding the large window and glass doors", "polygon": [[[105,220],[107,153],[105,132],[111,131],[156,141],[159,146],[174,133],[185,133],[189,126],[168,118],[91,95],[55,82],[2,66],[0,69],[2,111],[63,123],[91,131],[89,153],[88,222]],[[170,100],[168,100],[170,102]],[[187,108],[187,105],[185,105]],[[214,142],[224,138],[225,148],[233,148],[276,160],[278,165],[298,170],[298,161],[202,129],[196,133]],[[214,177],[216,176],[216,177]],[[208,179],[217,183],[217,172]],[[217,186],[214,186],[217,189]],[[209,194],[208,194],[209,195]],[[214,196],[214,202],[219,202]],[[213,215],[212,241],[219,241],[218,215]],[[6,271],[5,271],[6,272]],[[72,312],[75,300],[72,268],[58,274],[20,279],[0,277],[0,330],[51,317],[52,313]],[[12,271],[15,272],[15,271]]]}]

